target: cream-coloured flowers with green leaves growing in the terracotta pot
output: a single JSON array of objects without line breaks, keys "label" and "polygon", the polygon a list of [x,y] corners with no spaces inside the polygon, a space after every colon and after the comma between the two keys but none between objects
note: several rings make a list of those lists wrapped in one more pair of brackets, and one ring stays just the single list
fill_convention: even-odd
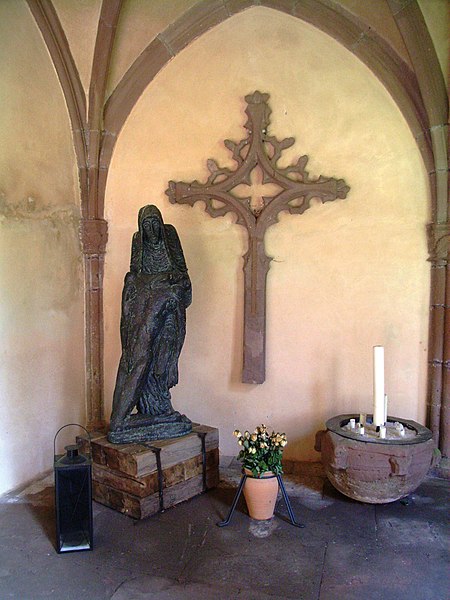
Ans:
[{"label": "cream-coloured flowers with green leaves growing in the terracotta pot", "polygon": [[266,471],[272,471],[275,475],[283,472],[281,459],[287,444],[284,433],[272,431],[269,435],[267,427],[261,425],[253,433],[245,431],[242,434],[236,429],[234,435],[241,446],[238,459],[245,469],[252,472],[253,477],[261,477]]}]

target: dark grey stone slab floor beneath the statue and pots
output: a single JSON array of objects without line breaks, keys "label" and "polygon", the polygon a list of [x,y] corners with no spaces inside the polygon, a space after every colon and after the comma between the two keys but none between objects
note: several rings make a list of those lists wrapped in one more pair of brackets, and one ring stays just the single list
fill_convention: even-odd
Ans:
[{"label": "dark grey stone slab floor beneath the statue and pots", "polygon": [[216,527],[239,468],[220,487],[134,522],[94,504],[93,552],[54,549],[51,477],[0,498],[0,598],[37,600],[446,600],[448,482],[428,478],[409,503],[354,502],[319,465],[285,476],[296,518],[252,521],[244,502]]}]

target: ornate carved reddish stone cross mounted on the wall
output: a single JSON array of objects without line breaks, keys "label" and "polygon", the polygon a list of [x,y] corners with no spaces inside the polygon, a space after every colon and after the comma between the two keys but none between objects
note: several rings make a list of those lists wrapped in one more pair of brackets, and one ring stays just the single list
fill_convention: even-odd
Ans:
[{"label": "ornate carved reddish stone cross mounted on the wall", "polygon": [[234,171],[207,161],[210,176],[206,183],[170,181],[166,194],[172,203],[194,205],[199,200],[212,217],[227,212],[237,215],[237,223],[248,232],[244,256],[244,383],[265,380],[266,276],[271,257],[264,250],[264,235],[280,211],[302,214],[312,198],[322,202],[345,198],[349,191],[343,179],[310,179],[305,170],[307,156],[295,165],[279,168],[281,153],[294,144],[294,138],[278,141],[267,133],[271,110],[269,94],[254,92],[245,97],[248,136],[238,143],[225,140],[237,163]]}]

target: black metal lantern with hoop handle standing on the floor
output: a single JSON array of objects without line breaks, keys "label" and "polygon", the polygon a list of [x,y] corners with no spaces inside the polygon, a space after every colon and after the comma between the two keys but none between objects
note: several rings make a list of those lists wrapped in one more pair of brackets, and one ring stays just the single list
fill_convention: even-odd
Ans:
[{"label": "black metal lantern with hoop handle standing on the floor", "polygon": [[[65,427],[77,426],[89,438],[89,454],[82,454],[77,444],[65,446],[66,454],[55,452],[56,437]],[[56,550],[75,552],[93,549],[92,460],[89,432],[77,423],[64,425],[53,440],[55,470]]]}]

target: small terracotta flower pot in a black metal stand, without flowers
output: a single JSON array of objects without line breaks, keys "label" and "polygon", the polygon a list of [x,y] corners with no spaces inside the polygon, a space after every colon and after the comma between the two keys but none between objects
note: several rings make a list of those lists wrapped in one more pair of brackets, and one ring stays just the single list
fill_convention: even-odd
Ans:
[{"label": "small terracotta flower pot in a black metal stand, without flowers", "polygon": [[272,471],[261,477],[253,477],[252,472],[244,469],[247,479],[244,485],[244,497],[252,519],[263,521],[271,519],[275,510],[278,494],[278,479]]}]

